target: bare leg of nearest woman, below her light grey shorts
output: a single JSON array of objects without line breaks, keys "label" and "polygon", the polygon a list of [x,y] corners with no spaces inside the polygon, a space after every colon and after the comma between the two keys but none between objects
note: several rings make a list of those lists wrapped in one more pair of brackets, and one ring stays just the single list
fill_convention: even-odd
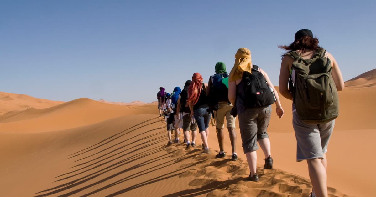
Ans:
[{"label": "bare leg of nearest woman, below her light grey shorts", "polygon": [[321,158],[308,159],[308,173],[317,197],[327,197],[326,170]]}]

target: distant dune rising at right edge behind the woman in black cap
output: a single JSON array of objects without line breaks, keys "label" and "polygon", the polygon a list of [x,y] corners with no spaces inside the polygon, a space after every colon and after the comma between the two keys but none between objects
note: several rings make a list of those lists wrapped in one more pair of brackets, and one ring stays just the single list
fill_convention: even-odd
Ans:
[{"label": "distant dune rising at right edge behind the woman in black cap", "polygon": [[376,69],[365,72],[357,77],[345,82],[345,86],[350,89],[362,87],[376,87]]}]

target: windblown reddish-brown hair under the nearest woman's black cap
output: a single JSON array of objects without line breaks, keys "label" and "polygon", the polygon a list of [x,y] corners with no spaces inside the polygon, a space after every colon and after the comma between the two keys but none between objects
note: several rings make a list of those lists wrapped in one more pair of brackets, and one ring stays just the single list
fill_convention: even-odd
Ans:
[{"label": "windblown reddish-brown hair under the nearest woman's black cap", "polygon": [[[278,48],[284,49],[288,52],[301,50],[301,54],[304,54],[307,49],[316,51],[320,49],[321,47],[318,46],[317,38],[312,38],[310,36],[303,36],[302,38],[300,38],[297,41],[294,41],[288,46],[282,45],[282,46],[278,46]],[[281,57],[284,58],[285,55],[286,53],[283,54]]]}]

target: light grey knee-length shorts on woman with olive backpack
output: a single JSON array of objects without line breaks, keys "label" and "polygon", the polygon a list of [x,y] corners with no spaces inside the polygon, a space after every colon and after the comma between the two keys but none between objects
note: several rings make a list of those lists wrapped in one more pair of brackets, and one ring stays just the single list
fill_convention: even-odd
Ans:
[{"label": "light grey knee-length shorts on woman with olive backpack", "polygon": [[334,121],[310,123],[300,120],[296,111],[293,112],[293,127],[297,143],[296,161],[323,158],[333,133]]}]

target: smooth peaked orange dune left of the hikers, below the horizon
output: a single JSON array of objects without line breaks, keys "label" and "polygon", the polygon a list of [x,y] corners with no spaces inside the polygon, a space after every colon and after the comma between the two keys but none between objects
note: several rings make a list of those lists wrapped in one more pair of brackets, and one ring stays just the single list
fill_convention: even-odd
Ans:
[{"label": "smooth peaked orange dune left of the hikers, below the horizon", "polygon": [[89,125],[127,114],[158,114],[156,105],[112,105],[80,98],[44,109],[29,108],[0,116],[2,131],[43,132]]}]

